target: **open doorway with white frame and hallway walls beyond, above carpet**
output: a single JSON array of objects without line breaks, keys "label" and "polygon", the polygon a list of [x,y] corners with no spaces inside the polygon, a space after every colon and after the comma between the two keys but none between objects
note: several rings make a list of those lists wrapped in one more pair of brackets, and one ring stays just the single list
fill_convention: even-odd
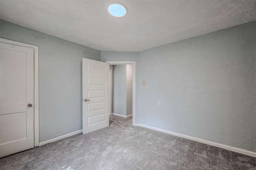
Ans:
[{"label": "open doorway with white frame and hallway walls beyond, above carpet", "polygon": [[106,61],[110,65],[110,114],[131,117],[136,124],[136,62]]}]

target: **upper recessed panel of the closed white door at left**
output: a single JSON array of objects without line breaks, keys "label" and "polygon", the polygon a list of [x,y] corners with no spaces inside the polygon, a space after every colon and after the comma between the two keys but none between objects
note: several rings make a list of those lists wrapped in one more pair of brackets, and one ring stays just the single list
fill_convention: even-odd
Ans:
[{"label": "upper recessed panel of the closed white door at left", "polygon": [[26,53],[2,49],[1,43],[1,73],[1,104],[26,103]]}]

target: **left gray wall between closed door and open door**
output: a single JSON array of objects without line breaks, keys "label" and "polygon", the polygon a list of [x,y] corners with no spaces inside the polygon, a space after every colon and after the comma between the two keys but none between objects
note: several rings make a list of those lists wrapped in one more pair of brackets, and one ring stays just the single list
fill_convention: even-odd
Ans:
[{"label": "left gray wall between closed door and open door", "polygon": [[82,129],[82,58],[100,51],[3,20],[0,37],[39,47],[40,142]]}]

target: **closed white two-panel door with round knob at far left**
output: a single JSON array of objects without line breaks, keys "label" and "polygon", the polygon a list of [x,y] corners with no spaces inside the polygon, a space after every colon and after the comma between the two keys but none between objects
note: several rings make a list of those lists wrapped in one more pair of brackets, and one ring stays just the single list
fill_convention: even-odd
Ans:
[{"label": "closed white two-panel door with round knob at far left", "polygon": [[34,49],[1,43],[0,157],[33,147]]}]

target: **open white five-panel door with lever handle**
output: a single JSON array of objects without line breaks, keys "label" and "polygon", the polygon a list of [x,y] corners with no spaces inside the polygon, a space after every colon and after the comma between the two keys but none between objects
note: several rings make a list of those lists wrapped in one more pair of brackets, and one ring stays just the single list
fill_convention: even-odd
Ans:
[{"label": "open white five-panel door with lever handle", "polygon": [[109,64],[84,59],[83,74],[83,134],[109,125]]}]

